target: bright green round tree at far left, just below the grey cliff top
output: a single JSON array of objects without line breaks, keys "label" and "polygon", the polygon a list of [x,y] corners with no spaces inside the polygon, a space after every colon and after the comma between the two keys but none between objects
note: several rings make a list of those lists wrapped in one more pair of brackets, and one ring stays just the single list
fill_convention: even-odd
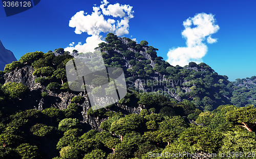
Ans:
[{"label": "bright green round tree at far left, just below the grey cliff top", "polygon": [[7,82],[3,86],[4,92],[8,94],[11,98],[19,98],[22,97],[24,94],[29,92],[29,88],[22,83],[16,82]]}]

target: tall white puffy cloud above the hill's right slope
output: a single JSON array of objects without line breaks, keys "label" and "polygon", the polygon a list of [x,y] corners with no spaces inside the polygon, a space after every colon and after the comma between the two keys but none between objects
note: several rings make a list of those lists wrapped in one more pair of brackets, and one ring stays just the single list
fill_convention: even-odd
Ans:
[{"label": "tall white puffy cloud above the hill's right slope", "polygon": [[181,34],[187,46],[168,51],[167,61],[173,66],[185,66],[191,61],[202,62],[207,52],[204,41],[210,44],[217,42],[217,39],[211,38],[211,35],[220,29],[214,15],[206,13],[197,14],[193,18],[189,17],[183,21],[183,26],[185,29]]}]

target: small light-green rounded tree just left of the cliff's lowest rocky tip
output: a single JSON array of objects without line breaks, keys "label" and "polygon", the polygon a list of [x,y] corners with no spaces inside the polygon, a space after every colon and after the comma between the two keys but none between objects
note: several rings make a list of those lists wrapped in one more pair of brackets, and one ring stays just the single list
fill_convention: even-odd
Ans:
[{"label": "small light-green rounded tree just left of the cliff's lowest rocky tip", "polygon": [[78,119],[65,118],[59,122],[58,130],[67,131],[78,126]]}]

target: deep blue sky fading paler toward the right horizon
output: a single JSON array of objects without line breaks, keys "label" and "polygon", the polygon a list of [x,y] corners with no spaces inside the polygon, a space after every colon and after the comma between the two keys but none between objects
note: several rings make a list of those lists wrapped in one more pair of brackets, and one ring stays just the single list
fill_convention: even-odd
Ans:
[{"label": "deep blue sky fading paler toward the right horizon", "polygon": [[[256,75],[256,2],[249,1],[108,1],[130,5],[133,18],[129,20],[129,34],[122,36],[148,41],[159,49],[158,56],[167,60],[169,49],[186,47],[181,33],[183,21],[198,13],[206,13],[215,18],[219,30],[211,34],[216,43],[207,46],[202,61],[230,81]],[[96,4],[96,5],[95,5]],[[66,48],[71,42],[85,43],[87,33],[75,34],[69,21],[79,11],[91,14],[94,5],[100,1],[41,1],[25,12],[6,17],[0,7],[0,40],[19,59],[32,51]],[[105,16],[106,19],[109,16]],[[116,18],[113,18],[116,19]],[[101,33],[103,37],[106,33]]]}]

